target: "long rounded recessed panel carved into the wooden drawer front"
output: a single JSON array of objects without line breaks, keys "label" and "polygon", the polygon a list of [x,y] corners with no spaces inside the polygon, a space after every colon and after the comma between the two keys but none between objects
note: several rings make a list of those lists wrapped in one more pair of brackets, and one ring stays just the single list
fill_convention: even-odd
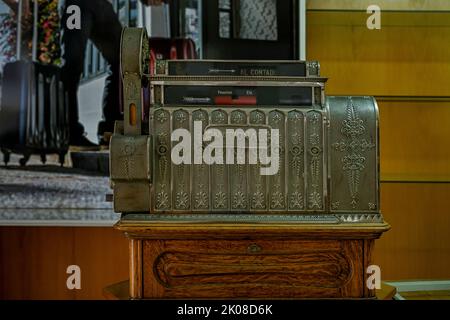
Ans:
[{"label": "long rounded recessed panel carved into the wooden drawer front", "polygon": [[209,254],[163,252],[154,263],[156,279],[166,288],[265,285],[341,288],[353,266],[339,252],[294,254]]}]

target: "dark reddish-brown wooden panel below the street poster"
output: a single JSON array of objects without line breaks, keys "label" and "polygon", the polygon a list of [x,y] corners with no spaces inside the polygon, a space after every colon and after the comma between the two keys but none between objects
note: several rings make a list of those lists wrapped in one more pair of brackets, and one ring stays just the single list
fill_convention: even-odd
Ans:
[{"label": "dark reddish-brown wooden panel below the street poster", "polygon": [[[128,279],[128,242],[112,227],[1,227],[0,261],[0,299],[102,299]],[[81,290],[66,287],[72,264]]]}]

